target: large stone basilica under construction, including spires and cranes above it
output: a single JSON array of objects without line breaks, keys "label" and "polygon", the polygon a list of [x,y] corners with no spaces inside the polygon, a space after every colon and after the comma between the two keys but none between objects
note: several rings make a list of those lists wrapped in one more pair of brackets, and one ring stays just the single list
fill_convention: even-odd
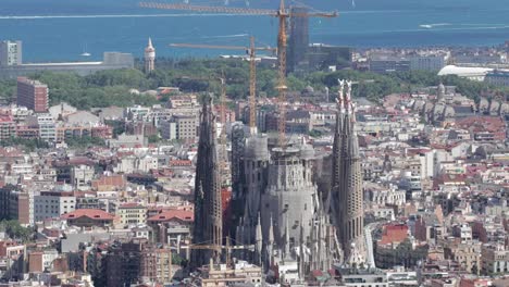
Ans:
[{"label": "large stone basilica under construction, including spires and cranes above it", "polygon": [[[309,18],[332,18],[338,13],[314,11],[308,5],[286,7],[284,0],[275,10],[189,3],[142,2],[140,5],[270,16],[278,21],[275,48],[257,46],[254,36],[245,47],[170,43],[174,49],[245,51],[249,61],[248,123],[227,128],[229,123],[224,114],[226,79],[221,75],[211,75],[211,79],[215,77],[222,87],[219,114],[213,113],[212,96],[203,102],[201,111],[195,185],[196,220],[193,245],[188,248],[191,249],[190,265],[201,272],[202,286],[231,286],[234,282],[248,283],[246,278],[256,285],[305,285],[312,271],[326,273],[335,264],[344,266],[363,262],[362,220],[348,217],[350,213],[346,211],[351,205],[340,208],[350,202],[349,192],[353,191],[356,200],[360,200],[355,204],[360,210],[355,213],[362,212],[360,183],[353,180],[352,186],[343,186],[348,177],[359,177],[355,174],[359,173],[358,155],[351,155],[357,152],[357,144],[351,142],[357,138],[349,136],[355,123],[351,117],[355,113],[350,101],[351,84],[339,83],[337,118],[340,122],[335,139],[339,148],[332,159],[335,171],[331,175],[330,190],[319,190],[315,183],[316,171],[322,170],[318,165],[323,164],[323,157],[315,154],[306,137],[287,135],[286,127],[287,109],[291,105],[287,99],[286,77],[288,72],[296,72],[308,59]],[[277,70],[277,133],[274,134],[258,130],[257,53],[260,51],[272,52],[277,59],[274,65]],[[228,138],[226,129],[231,130]],[[343,146],[345,148],[340,148]],[[225,192],[227,190],[231,192]],[[225,199],[225,195],[229,198]],[[222,212],[224,202],[232,204],[232,212],[227,213],[229,219]],[[358,244],[357,248],[351,248],[353,242]],[[246,262],[257,267],[241,267]]]}]

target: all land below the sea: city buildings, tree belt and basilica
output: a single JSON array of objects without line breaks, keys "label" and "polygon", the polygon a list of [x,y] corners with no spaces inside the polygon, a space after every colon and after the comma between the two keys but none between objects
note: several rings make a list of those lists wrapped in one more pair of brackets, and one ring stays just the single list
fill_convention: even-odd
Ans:
[{"label": "all land below the sea: city buildings, tree belt and basilica", "polygon": [[310,45],[335,13],[271,15],[287,66],[0,42],[0,76],[50,70],[0,82],[0,287],[509,286],[509,42]]}]

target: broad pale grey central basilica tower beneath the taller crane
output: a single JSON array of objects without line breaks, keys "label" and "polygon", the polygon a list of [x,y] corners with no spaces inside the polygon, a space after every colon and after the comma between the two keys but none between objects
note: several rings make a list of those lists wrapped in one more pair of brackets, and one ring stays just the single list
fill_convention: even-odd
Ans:
[{"label": "broad pale grey central basilica tower beneath the taller crane", "polygon": [[[301,232],[307,238],[315,213],[316,186],[312,180],[314,150],[309,145],[275,148],[269,165],[268,186],[260,211],[263,240],[273,228],[274,244],[289,257],[289,249],[299,247]],[[300,230],[300,228],[303,228]]]}]

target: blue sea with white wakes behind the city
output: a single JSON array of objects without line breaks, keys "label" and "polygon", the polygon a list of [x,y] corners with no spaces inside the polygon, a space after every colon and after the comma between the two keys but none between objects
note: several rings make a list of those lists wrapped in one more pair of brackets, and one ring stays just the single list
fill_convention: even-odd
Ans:
[{"label": "blue sea with white wakes behind the city", "polygon": [[[183,0],[161,0],[183,2]],[[224,5],[224,0],[189,0]],[[286,0],[288,4],[291,0]],[[351,47],[496,46],[509,39],[509,0],[300,0],[339,17],[310,21],[311,42]],[[229,7],[275,9],[278,0],[229,0]],[[24,62],[100,60],[104,51],[215,57],[232,51],[183,49],[173,42],[275,46],[268,16],[197,14],[138,7],[137,0],[0,0],[0,39],[23,40]],[[91,55],[84,58],[80,54]],[[240,53],[240,52],[239,52]]]}]

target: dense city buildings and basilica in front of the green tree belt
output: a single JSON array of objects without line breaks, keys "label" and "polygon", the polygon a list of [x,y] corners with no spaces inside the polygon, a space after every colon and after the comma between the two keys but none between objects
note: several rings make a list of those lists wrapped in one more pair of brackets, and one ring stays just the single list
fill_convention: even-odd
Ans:
[{"label": "dense city buildings and basilica in front of the green tree belt", "polygon": [[[0,216],[61,249],[7,234],[0,276],[505,286],[509,104],[442,83],[373,103],[352,98],[353,83],[339,82],[335,103],[309,90],[288,101],[288,125],[306,128],[284,146],[270,132],[281,121],[272,99],[258,102],[268,133],[244,124],[243,102],[223,127],[218,104],[169,87],[152,91],[171,90],[165,104],[1,107],[2,140],[46,144],[0,148]],[[102,144],[73,144],[90,138]]]}]

